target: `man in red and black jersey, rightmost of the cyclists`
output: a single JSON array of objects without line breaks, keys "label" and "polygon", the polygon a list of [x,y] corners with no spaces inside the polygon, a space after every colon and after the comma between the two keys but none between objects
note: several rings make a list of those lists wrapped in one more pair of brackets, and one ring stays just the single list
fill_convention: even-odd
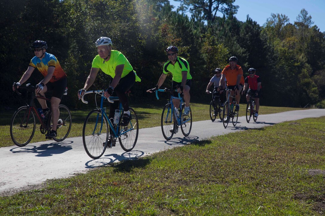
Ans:
[{"label": "man in red and black jersey, rightmost of the cyclists", "polygon": [[[246,100],[249,101],[249,93],[253,93],[255,96],[255,104],[256,104],[256,113],[254,114],[256,117],[258,116],[258,110],[260,108],[260,96],[261,96],[261,78],[257,75],[255,75],[256,70],[255,68],[249,68],[248,69],[249,76],[245,78],[245,85],[244,90],[242,91],[242,95],[245,95],[246,92]],[[248,88],[248,90],[247,90]],[[247,91],[246,91],[247,90]],[[248,109],[250,109],[249,107]]]}]

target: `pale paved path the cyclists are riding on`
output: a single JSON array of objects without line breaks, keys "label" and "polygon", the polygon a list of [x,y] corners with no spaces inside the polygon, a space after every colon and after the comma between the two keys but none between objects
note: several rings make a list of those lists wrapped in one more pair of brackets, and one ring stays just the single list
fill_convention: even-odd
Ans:
[{"label": "pale paved path the cyclists are riding on", "polygon": [[226,129],[218,119],[214,122],[210,120],[193,122],[188,137],[184,137],[179,130],[169,141],[163,138],[161,127],[143,128],[139,130],[134,150],[124,152],[117,142],[116,147],[106,149],[104,155],[96,160],[91,159],[85,153],[81,137],[67,138],[62,142],[48,140],[30,143],[24,147],[3,147],[0,148],[0,195],[33,188],[34,185],[40,184],[46,179],[69,177],[111,162],[134,159],[153,152],[182,146],[195,140],[323,115],[325,115],[325,109],[297,110],[259,115],[256,123],[253,122],[253,119],[247,123],[246,117],[243,116],[238,118],[236,127],[229,122]]}]

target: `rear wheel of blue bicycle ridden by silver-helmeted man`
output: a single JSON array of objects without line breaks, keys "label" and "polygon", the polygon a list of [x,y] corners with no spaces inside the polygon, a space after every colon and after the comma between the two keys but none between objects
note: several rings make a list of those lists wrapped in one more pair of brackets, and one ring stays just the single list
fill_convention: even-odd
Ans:
[{"label": "rear wheel of blue bicycle ridden by silver-helmeted man", "polygon": [[[136,140],[138,139],[139,124],[136,112],[129,108],[131,118],[127,126],[121,126],[119,142],[124,151],[131,151],[136,146]],[[120,118],[120,125],[123,118]]]}]

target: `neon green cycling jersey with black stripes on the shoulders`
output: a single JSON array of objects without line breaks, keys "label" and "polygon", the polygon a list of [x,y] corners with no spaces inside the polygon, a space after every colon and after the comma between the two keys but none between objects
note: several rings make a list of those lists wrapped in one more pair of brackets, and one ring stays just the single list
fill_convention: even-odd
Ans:
[{"label": "neon green cycling jersey with black stripes on the shoulders", "polygon": [[182,71],[187,71],[187,78],[192,79],[192,76],[189,74],[189,65],[188,62],[181,57],[177,56],[177,60],[175,65],[172,65],[171,62],[168,60],[163,65],[163,73],[168,74],[169,72],[173,75],[173,81],[175,82],[182,82]]}]

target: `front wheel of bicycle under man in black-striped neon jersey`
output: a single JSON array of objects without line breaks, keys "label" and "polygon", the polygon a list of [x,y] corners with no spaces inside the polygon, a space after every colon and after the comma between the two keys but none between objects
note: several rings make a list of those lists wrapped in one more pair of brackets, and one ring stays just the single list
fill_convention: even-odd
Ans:
[{"label": "front wheel of bicycle under man in black-striped neon jersey", "polygon": [[167,103],[163,107],[161,118],[162,135],[166,140],[170,140],[173,137],[175,128],[177,127],[174,119],[175,112],[172,113],[172,107]]}]

